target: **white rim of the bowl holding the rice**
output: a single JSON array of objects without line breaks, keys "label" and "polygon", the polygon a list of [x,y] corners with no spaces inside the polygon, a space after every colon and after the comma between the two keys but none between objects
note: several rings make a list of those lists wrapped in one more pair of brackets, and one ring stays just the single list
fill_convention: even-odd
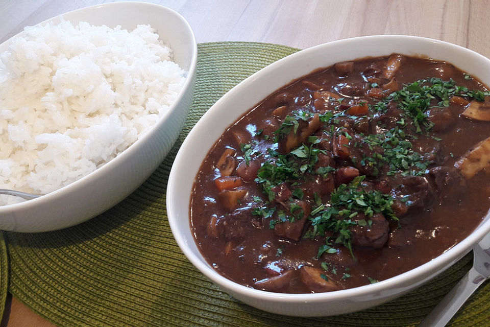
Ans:
[{"label": "white rim of the bowl holding the rice", "polygon": [[[44,24],[47,24],[48,22],[50,22],[54,19],[62,18],[65,15],[77,14],[79,12],[86,11],[86,10],[94,10],[94,9],[96,10],[96,9],[105,8],[105,7],[113,7],[113,6],[121,6],[122,7],[122,6],[130,6],[130,5],[132,5],[132,6],[149,6],[149,7],[155,7],[159,10],[165,10],[165,11],[168,11],[171,15],[178,17],[179,20],[182,21],[183,25],[187,29],[187,33],[189,33],[189,35],[192,38],[191,61],[189,63],[189,69],[186,71],[186,75],[187,75],[187,77],[193,76],[195,74],[196,69],[197,69],[197,53],[198,53],[197,42],[195,40],[194,32],[192,31],[192,28],[190,27],[187,20],[181,14],[179,14],[178,12],[176,12],[173,9],[170,9],[170,8],[162,6],[162,5],[157,5],[157,4],[153,4],[153,3],[147,3],[147,2],[112,2],[112,3],[106,3],[106,4],[92,5],[92,6],[88,6],[88,7],[75,9],[75,10],[72,10],[72,11],[69,11],[69,12],[48,18],[48,19],[43,20],[43,21],[41,21],[38,24],[35,24],[33,26],[44,25]],[[10,42],[13,38],[22,34],[23,32],[24,32],[24,30],[15,34],[11,38],[5,40],[0,45],[3,45],[4,43]],[[158,33],[158,31],[157,31],[157,33]],[[167,112],[158,120],[158,122],[155,125],[153,125],[149,130],[147,130],[145,133],[143,133],[140,137],[138,137],[138,139],[132,145],[130,145],[127,149],[125,149],[124,151],[122,151],[121,153],[116,155],[112,160],[106,162],[106,164],[104,164],[102,167],[97,168],[93,172],[83,176],[82,178],[80,178],[74,182],[71,182],[71,183],[59,188],[58,190],[55,190],[53,192],[41,195],[38,198],[29,200],[29,201],[23,201],[23,202],[19,202],[19,203],[13,203],[13,204],[0,206],[0,214],[4,214],[4,213],[7,214],[10,212],[15,212],[17,209],[23,209],[23,208],[36,206],[41,201],[46,201],[46,202],[47,201],[56,201],[58,198],[64,196],[66,193],[77,192],[77,189],[79,189],[79,186],[81,186],[82,184],[89,184],[89,183],[91,183],[91,181],[99,179],[100,176],[105,174],[106,170],[112,169],[112,166],[117,165],[118,162],[120,162],[120,161],[126,160],[127,156],[131,156],[132,152],[134,152],[134,150],[133,150],[134,148],[138,147],[138,145],[140,143],[145,142],[146,138],[151,137],[151,135],[154,134],[157,129],[161,128],[161,125],[164,124],[166,117],[171,112],[177,110],[176,104],[181,102],[182,98],[185,96],[185,93],[186,93],[185,91],[189,87],[192,86],[191,84],[192,84],[192,79],[186,78],[186,80],[185,80],[184,84],[182,85],[182,88],[179,91],[179,94],[177,95],[174,103],[168,107]],[[109,164],[111,164],[111,165],[109,165]]]}]

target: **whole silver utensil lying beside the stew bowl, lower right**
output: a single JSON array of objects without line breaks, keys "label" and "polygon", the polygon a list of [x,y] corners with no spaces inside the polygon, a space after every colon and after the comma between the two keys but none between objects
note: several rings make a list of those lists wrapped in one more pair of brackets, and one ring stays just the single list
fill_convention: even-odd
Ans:
[{"label": "whole silver utensil lying beside the stew bowl, lower right", "polygon": [[419,327],[442,327],[461,308],[464,302],[490,276],[490,234],[473,247],[473,267],[438,303]]}]

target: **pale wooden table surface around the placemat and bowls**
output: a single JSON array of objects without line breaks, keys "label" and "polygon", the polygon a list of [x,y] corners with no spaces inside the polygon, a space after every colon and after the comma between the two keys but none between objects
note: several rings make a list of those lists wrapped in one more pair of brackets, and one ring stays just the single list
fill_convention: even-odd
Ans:
[{"label": "pale wooden table surface around the placemat and bowls", "polygon": [[[0,43],[50,17],[110,1],[0,0]],[[174,9],[198,43],[258,41],[308,48],[375,34],[436,38],[490,57],[486,0],[147,0]],[[355,55],[354,55],[355,56]],[[9,299],[1,326],[54,326]],[[11,304],[10,304],[11,303]]]}]

